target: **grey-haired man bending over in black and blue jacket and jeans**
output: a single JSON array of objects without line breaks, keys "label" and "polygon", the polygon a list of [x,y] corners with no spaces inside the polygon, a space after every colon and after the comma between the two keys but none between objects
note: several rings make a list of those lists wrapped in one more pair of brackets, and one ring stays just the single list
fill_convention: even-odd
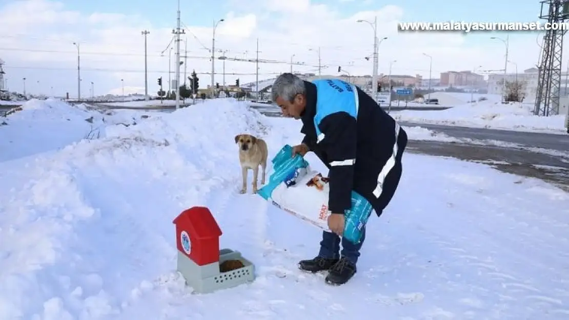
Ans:
[{"label": "grey-haired man bending over in black and blue jacket and jeans", "polygon": [[372,97],[341,80],[309,82],[283,73],[273,84],[272,97],[285,117],[302,120],[304,139],[293,152],[304,156],[312,151],[329,169],[328,227],[333,232],[323,232],[318,256],[300,261],[299,268],[329,271],[328,284],[344,284],[356,273],[365,240],[365,226],[360,243],[340,240],[351,192],[360,193],[381,215],[401,178],[407,134]]}]

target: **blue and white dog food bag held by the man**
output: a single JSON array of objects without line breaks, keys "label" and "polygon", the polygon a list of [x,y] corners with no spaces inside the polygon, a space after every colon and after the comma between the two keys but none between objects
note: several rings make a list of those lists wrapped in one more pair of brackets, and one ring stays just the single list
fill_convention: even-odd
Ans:
[{"label": "blue and white dog food bag held by the man", "polygon": [[[319,180],[316,188],[311,183],[318,172],[312,172],[310,165],[300,155],[292,157],[292,147],[284,146],[272,160],[273,174],[267,185],[258,190],[259,196],[290,214],[309,222],[322,230],[329,231],[328,184]],[[353,243],[361,240],[362,229],[372,213],[370,203],[357,192],[352,191],[352,207],[345,213],[344,238]]]}]

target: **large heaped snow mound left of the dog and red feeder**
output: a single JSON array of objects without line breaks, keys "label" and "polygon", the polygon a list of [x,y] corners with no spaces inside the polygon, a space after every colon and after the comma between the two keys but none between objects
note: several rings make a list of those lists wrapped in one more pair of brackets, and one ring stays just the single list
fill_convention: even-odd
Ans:
[{"label": "large heaped snow mound left of the dog and red feeder", "polygon": [[[49,105],[18,118],[85,128],[84,111]],[[4,163],[0,319],[107,318],[125,307],[116,297],[134,297],[140,281],[174,268],[172,219],[205,204],[210,190],[237,187],[234,135],[267,130],[243,103],[200,107]]]}]

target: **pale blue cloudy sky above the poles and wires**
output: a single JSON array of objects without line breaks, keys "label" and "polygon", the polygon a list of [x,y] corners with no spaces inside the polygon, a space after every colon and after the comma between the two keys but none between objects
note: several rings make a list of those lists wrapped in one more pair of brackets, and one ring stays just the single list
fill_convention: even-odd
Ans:
[{"label": "pale blue cloudy sky above the poles and wires", "polygon": [[[77,46],[81,96],[145,92],[145,36],[149,94],[158,91],[158,77],[168,86],[175,77],[178,0],[0,0],[0,59],[5,61],[11,91],[77,97]],[[536,22],[539,1],[519,0],[180,0],[182,56],[186,77],[193,70],[200,88],[211,84],[214,22],[215,82],[226,85],[255,81],[255,63],[218,60],[255,59],[259,80],[279,73],[319,72],[337,76],[342,67],[352,76],[372,74],[373,27],[357,23],[377,17],[378,72],[420,74],[432,78],[447,70],[503,72],[506,46],[490,39],[509,36],[508,72],[535,67],[543,33],[538,31],[399,32],[398,22]],[[185,47],[187,45],[187,54]],[[564,47],[567,47],[567,42]],[[222,51],[222,52],[220,52]],[[567,52],[567,48],[564,49]],[[163,55],[162,55],[163,52]],[[294,55],[294,56],[293,56]],[[169,60],[171,68],[169,68]],[[182,57],[182,60],[184,58]],[[392,61],[395,61],[392,63]],[[563,68],[566,65],[563,64]],[[502,70],[502,71],[499,71]],[[181,68],[183,81],[184,65]],[[483,73],[483,72],[479,72]],[[23,78],[26,78],[24,81]]]}]

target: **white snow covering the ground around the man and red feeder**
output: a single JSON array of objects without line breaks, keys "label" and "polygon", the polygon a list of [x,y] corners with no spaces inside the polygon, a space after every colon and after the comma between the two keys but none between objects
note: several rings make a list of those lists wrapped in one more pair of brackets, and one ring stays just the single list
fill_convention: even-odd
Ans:
[{"label": "white snow covering the ground around the man and red feeder", "polygon": [[[30,103],[0,126],[45,136],[2,146],[0,320],[569,316],[569,195],[540,180],[407,153],[358,273],[333,287],[296,268],[318,252],[315,227],[238,194],[234,135],[262,136],[272,157],[302,139],[299,122],[220,99],[81,139],[92,111]],[[254,282],[206,295],[184,286],[172,220],[199,205],[220,224],[221,247],[253,261]]]}]

